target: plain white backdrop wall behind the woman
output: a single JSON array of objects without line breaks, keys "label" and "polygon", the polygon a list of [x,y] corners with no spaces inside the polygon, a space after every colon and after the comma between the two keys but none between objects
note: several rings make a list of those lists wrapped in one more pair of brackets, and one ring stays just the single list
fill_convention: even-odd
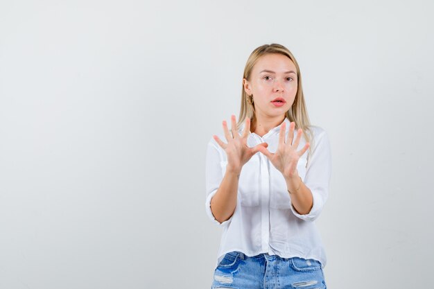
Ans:
[{"label": "plain white backdrop wall behind the woman", "polygon": [[210,288],[205,151],[248,55],[300,64],[329,288],[427,288],[432,1],[1,1],[0,288]]}]

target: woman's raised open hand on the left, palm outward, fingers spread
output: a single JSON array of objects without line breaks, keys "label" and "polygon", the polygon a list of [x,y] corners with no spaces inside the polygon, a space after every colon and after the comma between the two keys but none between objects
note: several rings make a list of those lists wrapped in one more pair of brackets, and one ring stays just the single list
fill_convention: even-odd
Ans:
[{"label": "woman's raised open hand on the left, palm outward, fingers spread", "polygon": [[227,143],[221,141],[216,135],[213,137],[217,141],[218,145],[226,152],[226,170],[232,171],[236,173],[236,175],[239,175],[244,164],[247,163],[254,154],[259,152],[259,147],[262,146],[266,148],[268,143],[259,143],[259,145],[250,148],[247,144],[247,139],[250,133],[250,119],[245,119],[245,127],[242,135],[238,134],[238,130],[236,129],[236,119],[233,114],[231,116],[231,122],[232,134],[227,128],[226,121],[223,121],[223,131],[225,132]]}]

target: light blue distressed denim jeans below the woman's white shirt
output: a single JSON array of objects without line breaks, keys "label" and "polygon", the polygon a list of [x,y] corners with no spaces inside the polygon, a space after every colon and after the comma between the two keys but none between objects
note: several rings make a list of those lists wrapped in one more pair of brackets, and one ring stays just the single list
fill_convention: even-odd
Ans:
[{"label": "light blue distressed denim jeans below the woman's white shirt", "polygon": [[319,261],[268,254],[249,257],[241,252],[229,252],[214,271],[211,288],[325,289],[327,286]]}]

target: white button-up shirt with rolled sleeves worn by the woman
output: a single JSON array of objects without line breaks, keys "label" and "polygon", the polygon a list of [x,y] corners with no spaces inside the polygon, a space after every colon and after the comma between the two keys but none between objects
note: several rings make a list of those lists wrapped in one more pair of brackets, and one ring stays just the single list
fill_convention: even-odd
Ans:
[{"label": "white button-up shirt with rolled sleeves worn by the woman", "polygon": [[[286,136],[290,121],[286,122]],[[239,129],[243,132],[244,125]],[[211,138],[207,148],[205,207],[207,215],[217,225],[223,227],[218,249],[217,265],[227,252],[239,251],[247,256],[261,253],[276,254],[281,258],[294,256],[327,262],[318,229],[313,222],[322,211],[329,195],[331,176],[331,152],[327,133],[319,127],[311,126],[314,134],[312,155],[307,160],[308,151],[300,157],[297,170],[304,184],[311,189],[313,207],[306,215],[300,215],[291,204],[283,175],[268,158],[257,152],[242,168],[238,179],[238,195],[234,214],[222,223],[211,211],[211,198],[216,194],[225,175],[227,155],[225,150]],[[275,152],[279,141],[280,125],[263,137],[250,133],[248,146],[268,143],[268,150]],[[294,140],[297,131],[294,131]],[[219,136],[220,137],[220,136]],[[226,141],[224,137],[220,137]],[[286,138],[285,138],[286,139]],[[297,150],[303,148],[306,140],[300,140]]]}]

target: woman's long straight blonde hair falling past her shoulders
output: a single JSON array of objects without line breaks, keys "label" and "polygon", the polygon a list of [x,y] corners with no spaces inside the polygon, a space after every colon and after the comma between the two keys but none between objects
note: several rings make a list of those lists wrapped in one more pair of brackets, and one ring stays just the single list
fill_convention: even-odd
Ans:
[{"label": "woman's long straight blonde hair falling past her shoulders", "polygon": [[[306,103],[304,103],[304,94],[302,89],[302,75],[300,73],[300,67],[298,66],[297,60],[295,60],[294,55],[290,53],[290,51],[280,44],[265,44],[259,46],[257,49],[254,49],[252,54],[250,54],[244,68],[243,78],[246,80],[250,80],[250,74],[252,73],[254,64],[257,63],[261,56],[270,54],[270,53],[278,53],[281,55],[285,55],[295,64],[295,68],[297,69],[297,94],[295,94],[295,99],[292,107],[285,113],[285,116],[289,121],[295,122],[295,130],[298,128],[302,128],[304,138],[306,142],[309,142],[309,152],[308,155],[311,155],[311,148],[313,148],[313,132],[311,130],[311,122],[309,121],[309,115],[307,114]],[[241,107],[240,114],[238,116],[238,128],[244,123],[246,118],[249,118],[250,121],[254,121],[256,119],[256,115],[254,112],[254,103],[250,104],[248,101],[248,94],[243,89],[241,91]]]}]

